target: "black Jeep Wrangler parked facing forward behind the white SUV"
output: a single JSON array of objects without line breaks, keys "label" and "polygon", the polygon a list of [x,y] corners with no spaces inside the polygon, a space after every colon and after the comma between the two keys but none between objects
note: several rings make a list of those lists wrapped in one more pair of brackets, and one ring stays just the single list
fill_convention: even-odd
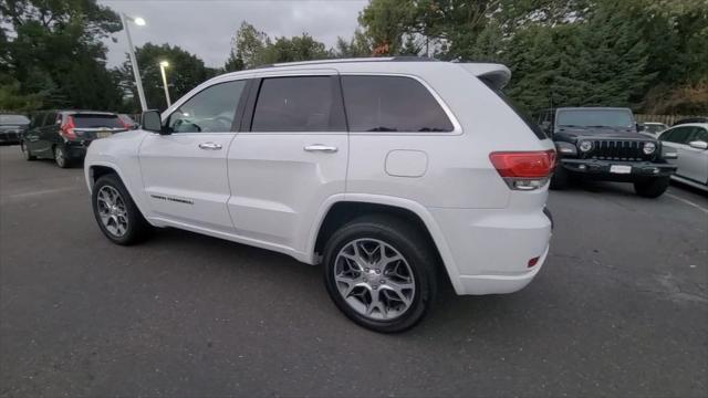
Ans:
[{"label": "black Jeep Wrangler parked facing forward behind the white SUV", "polygon": [[551,189],[574,178],[633,182],[637,195],[657,198],[666,191],[676,151],[639,134],[628,108],[563,107],[544,109],[538,122],[555,143],[559,164]]}]

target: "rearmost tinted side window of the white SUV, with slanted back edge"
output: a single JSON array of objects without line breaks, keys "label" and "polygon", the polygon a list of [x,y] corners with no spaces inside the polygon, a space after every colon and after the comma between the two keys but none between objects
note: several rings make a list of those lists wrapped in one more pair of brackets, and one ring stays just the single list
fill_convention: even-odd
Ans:
[{"label": "rearmost tinted side window of the white SUV, with slanted back edge", "polygon": [[342,76],[350,132],[451,132],[430,92],[402,76]]}]

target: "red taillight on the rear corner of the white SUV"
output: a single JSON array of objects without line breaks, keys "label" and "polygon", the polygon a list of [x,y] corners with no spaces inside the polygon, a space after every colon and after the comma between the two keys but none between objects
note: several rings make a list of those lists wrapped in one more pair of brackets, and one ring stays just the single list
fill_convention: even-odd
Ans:
[{"label": "red taillight on the rear corner of the white SUV", "polygon": [[555,168],[555,150],[500,151],[489,155],[501,177],[543,178]]}]

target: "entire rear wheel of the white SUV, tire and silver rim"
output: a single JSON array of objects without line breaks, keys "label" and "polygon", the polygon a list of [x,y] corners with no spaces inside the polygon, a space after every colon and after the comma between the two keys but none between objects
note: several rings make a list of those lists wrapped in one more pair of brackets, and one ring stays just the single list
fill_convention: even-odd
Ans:
[{"label": "entire rear wheel of the white SUV, tire and silver rim", "polygon": [[324,251],[330,297],[352,321],[375,332],[413,327],[436,292],[436,255],[415,226],[388,216],[340,228]]}]

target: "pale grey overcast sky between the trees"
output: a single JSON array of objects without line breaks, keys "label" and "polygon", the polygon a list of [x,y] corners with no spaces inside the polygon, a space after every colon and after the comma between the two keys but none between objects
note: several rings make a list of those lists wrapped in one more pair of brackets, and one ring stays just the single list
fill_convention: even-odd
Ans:
[{"label": "pale grey overcast sky between the trees", "polygon": [[[336,38],[351,39],[358,12],[367,0],[98,0],[116,12],[142,17],[147,24],[131,24],[133,43],[169,43],[196,54],[207,66],[223,66],[231,38],[247,21],[274,36],[303,32],[334,45]],[[117,43],[106,41],[108,66],[125,61],[127,41],[116,32]]]}]

